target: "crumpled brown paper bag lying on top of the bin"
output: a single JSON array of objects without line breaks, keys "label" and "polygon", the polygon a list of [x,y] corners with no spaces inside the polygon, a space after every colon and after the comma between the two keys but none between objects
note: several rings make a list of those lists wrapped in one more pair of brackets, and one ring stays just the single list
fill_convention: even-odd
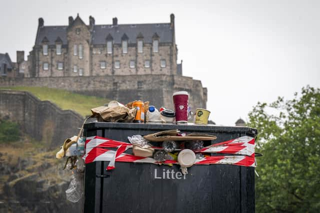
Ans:
[{"label": "crumpled brown paper bag lying on top of the bin", "polygon": [[129,109],[125,106],[100,106],[92,108],[91,112],[92,117],[97,118],[97,121],[132,122],[136,114],[136,108]]}]

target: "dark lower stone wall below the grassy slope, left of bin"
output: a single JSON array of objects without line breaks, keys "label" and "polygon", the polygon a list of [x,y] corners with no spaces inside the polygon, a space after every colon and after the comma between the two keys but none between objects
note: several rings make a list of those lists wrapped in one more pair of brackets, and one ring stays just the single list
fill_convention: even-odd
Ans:
[{"label": "dark lower stone wall below the grassy slope, left of bin", "polygon": [[17,122],[24,132],[50,148],[77,135],[83,118],[70,110],[61,110],[49,101],[40,101],[28,92],[0,90],[0,118]]}]

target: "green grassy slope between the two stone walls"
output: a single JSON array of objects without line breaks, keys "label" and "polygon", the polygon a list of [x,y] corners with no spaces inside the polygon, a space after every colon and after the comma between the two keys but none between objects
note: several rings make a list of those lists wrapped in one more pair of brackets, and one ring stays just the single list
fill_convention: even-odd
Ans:
[{"label": "green grassy slope between the two stone walls", "polygon": [[80,95],[62,89],[52,89],[47,87],[2,87],[2,89],[12,89],[28,91],[40,100],[48,100],[55,103],[61,109],[70,109],[82,116],[90,115],[90,109],[103,106],[109,100],[94,96]]}]

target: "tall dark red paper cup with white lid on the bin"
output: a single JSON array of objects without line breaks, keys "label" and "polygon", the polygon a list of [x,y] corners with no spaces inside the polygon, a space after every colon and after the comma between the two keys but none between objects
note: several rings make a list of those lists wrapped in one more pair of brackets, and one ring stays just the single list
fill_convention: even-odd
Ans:
[{"label": "tall dark red paper cup with white lid on the bin", "polygon": [[188,92],[179,91],[172,95],[176,123],[188,122]]}]

